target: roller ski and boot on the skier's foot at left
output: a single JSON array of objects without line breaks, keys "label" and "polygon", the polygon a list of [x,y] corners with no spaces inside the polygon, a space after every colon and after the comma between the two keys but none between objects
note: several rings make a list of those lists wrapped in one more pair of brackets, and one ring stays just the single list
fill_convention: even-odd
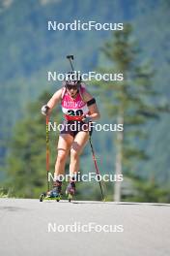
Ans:
[{"label": "roller ski and boot on the skier's foot at left", "polygon": [[55,200],[59,202],[61,200],[62,185],[60,181],[55,181],[52,190],[42,193],[40,196],[40,202],[43,200]]}]

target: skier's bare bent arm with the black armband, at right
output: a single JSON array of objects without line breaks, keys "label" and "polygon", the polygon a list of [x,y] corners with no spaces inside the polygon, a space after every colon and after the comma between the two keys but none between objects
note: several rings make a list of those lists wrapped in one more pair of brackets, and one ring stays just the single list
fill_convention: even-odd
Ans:
[{"label": "skier's bare bent arm with the black armband, at right", "polygon": [[[88,102],[90,100],[92,100],[94,97],[86,90],[84,93],[83,93],[83,99],[85,102]],[[88,109],[89,109],[89,117],[91,117],[93,120],[97,120],[99,119],[100,117],[100,113],[99,113],[99,109],[98,109],[98,106],[96,103],[88,106]]]}]

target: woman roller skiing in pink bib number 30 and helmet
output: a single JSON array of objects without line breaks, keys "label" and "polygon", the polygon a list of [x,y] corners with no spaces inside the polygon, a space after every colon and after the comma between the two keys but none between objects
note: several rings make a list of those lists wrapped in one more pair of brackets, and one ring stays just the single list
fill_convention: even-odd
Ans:
[{"label": "woman roller skiing in pink bib number 30 and helmet", "polygon": [[[42,114],[50,114],[52,109],[61,103],[65,120],[58,141],[58,155],[55,164],[56,177],[53,189],[48,197],[58,197],[62,190],[60,176],[65,175],[66,160],[71,153],[70,182],[66,193],[75,194],[75,176],[79,170],[79,156],[91,135],[89,122],[99,119],[99,110],[95,98],[87,91],[83,83],[74,72],[69,72],[63,82],[64,86],[57,90],[46,105],[42,107]],[[71,129],[71,124],[74,124]]]}]

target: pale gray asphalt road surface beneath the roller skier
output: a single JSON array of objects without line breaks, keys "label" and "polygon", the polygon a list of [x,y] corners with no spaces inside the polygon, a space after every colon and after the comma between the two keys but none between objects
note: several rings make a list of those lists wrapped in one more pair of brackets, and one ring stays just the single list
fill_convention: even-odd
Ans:
[{"label": "pale gray asphalt road surface beneath the roller skier", "polygon": [[0,199],[0,255],[169,256],[170,205]]}]

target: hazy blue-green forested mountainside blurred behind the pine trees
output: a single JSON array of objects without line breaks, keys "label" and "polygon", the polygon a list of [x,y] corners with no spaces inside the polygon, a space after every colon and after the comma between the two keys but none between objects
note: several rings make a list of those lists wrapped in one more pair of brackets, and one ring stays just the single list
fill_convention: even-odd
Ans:
[{"label": "hazy blue-green forested mountainside blurred behind the pine trees", "polygon": [[[132,37],[137,38],[143,49],[138,53],[137,64],[144,59],[151,59],[152,67],[156,70],[152,79],[155,89],[167,97],[170,95],[168,0],[152,0],[147,3],[140,0],[124,3],[119,0],[108,0],[106,4],[99,0],[98,5],[89,0],[66,1],[56,1],[56,3],[49,1],[47,5],[42,5],[42,1],[14,0],[9,1],[4,8],[2,8],[3,4],[0,4],[0,31],[3,35],[0,41],[0,106],[3,110],[0,123],[0,181],[8,177],[9,173],[5,172],[5,163],[6,156],[11,155],[11,142],[15,136],[14,125],[18,126],[20,120],[22,122],[22,119],[27,118],[26,106],[30,99],[38,100],[42,90],[50,88],[50,91],[54,91],[60,86],[59,82],[46,80],[47,71],[67,71],[69,66],[65,55],[68,53],[75,55],[75,67],[83,72],[93,71],[97,65],[109,66],[108,60],[99,54],[99,47],[111,37],[109,31],[60,31],[60,33],[47,31],[47,19],[56,20],[57,17],[63,22],[71,22],[74,19],[87,21],[93,16],[94,20],[100,22],[129,21],[134,27]],[[80,46],[83,50],[79,50]],[[98,97],[99,108],[102,110],[100,94]],[[161,100],[161,103],[166,103],[166,97]],[[101,112],[101,117],[101,121],[106,119],[108,122],[105,112]],[[139,166],[135,165],[132,171],[134,173],[142,171],[141,176],[145,177],[154,174],[156,180],[162,185],[168,184],[170,180],[169,125],[169,116],[161,114],[158,122],[153,121],[151,125],[142,129],[142,133],[136,133],[139,139],[135,141],[138,149],[145,148],[144,153],[150,158],[145,162],[145,168],[139,164]],[[152,131],[151,126],[154,127]],[[127,132],[130,138],[129,130]],[[132,131],[132,136],[134,133],[135,131]],[[140,138],[142,139],[145,135],[150,136],[143,143]],[[101,172],[111,172],[114,154],[111,136],[108,133],[96,133],[93,135],[93,140],[98,154],[102,157]],[[134,144],[135,147],[136,144]],[[86,166],[90,169],[91,156],[88,156],[89,152],[86,154]],[[131,155],[134,155],[133,148],[131,148]],[[141,157],[146,155],[141,154]]]}]

